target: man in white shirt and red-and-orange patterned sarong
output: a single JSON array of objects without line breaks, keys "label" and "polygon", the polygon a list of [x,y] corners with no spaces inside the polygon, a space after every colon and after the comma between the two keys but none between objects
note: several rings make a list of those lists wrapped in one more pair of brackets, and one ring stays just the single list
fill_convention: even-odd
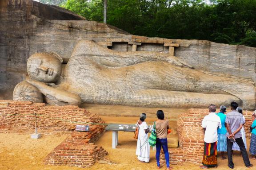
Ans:
[{"label": "man in white shirt and red-and-orange patterned sarong", "polygon": [[202,169],[217,166],[217,141],[218,127],[221,129],[220,117],[216,115],[216,105],[209,106],[209,114],[204,117],[202,127],[204,128],[204,156]]}]

